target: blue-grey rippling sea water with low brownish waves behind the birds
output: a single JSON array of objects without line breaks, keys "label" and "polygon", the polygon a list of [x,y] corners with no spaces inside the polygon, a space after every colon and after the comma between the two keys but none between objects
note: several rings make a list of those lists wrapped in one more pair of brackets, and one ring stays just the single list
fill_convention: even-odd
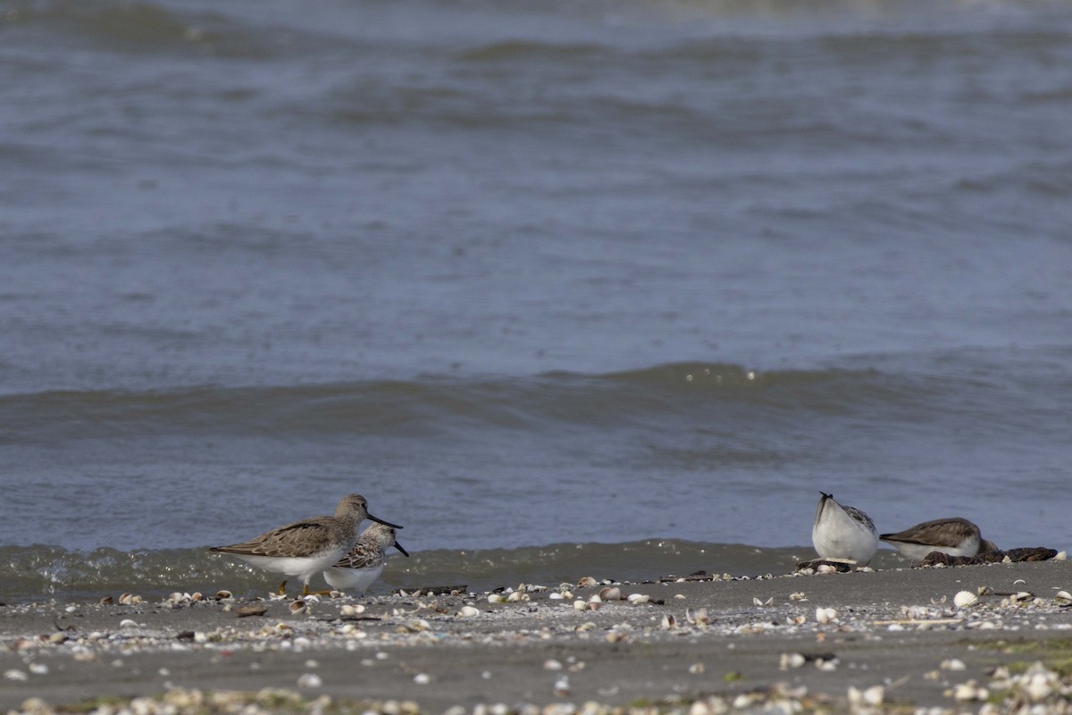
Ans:
[{"label": "blue-grey rippling sea water with low brownish waves behind the birds", "polygon": [[[1072,5],[0,0],[0,600],[1072,546]],[[883,552],[882,565],[900,564]]]}]

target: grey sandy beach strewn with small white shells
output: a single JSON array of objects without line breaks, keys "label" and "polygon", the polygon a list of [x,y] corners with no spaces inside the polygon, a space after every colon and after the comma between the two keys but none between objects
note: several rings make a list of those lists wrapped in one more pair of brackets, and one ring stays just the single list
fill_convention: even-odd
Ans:
[{"label": "grey sandy beach strewn with small white shells", "polygon": [[[701,713],[778,699],[977,712],[1021,697],[999,666],[1067,673],[1072,656],[1072,608],[1058,595],[1072,590],[1067,561],[628,583],[595,610],[584,604],[612,575],[585,576],[598,583],[325,597],[298,612],[293,599],[215,594],[8,604],[0,709],[283,688],[321,706],[328,696],[458,715],[671,702]],[[978,602],[958,608],[959,592]],[[1055,677],[1051,698],[1068,687]]]}]

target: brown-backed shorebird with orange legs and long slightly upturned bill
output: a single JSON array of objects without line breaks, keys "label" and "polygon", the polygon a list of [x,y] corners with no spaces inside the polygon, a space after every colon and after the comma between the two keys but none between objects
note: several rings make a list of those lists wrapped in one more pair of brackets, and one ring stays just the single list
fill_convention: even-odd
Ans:
[{"label": "brown-backed shorebird with orange legs and long slightly upturned bill", "polygon": [[[347,494],[339,501],[333,517],[295,521],[249,541],[209,551],[229,553],[266,571],[301,577],[301,595],[308,596],[309,579],[342,558],[357,541],[357,527],[366,519],[402,528],[369,513],[369,503],[360,494]],[[286,581],[279,584],[280,595],[286,593]]]}]

